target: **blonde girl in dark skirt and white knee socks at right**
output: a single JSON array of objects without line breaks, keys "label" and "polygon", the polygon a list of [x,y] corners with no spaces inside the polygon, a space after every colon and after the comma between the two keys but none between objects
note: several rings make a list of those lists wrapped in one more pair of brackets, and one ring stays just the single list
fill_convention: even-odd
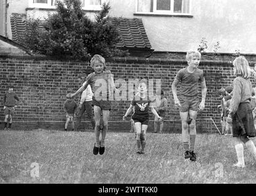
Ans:
[{"label": "blonde girl in dark skirt and white knee socks at right", "polygon": [[250,67],[244,56],[239,56],[233,61],[234,75],[233,96],[231,99],[230,113],[227,122],[232,123],[233,137],[235,138],[236,155],[238,163],[234,166],[244,167],[244,145],[249,149],[250,153],[256,160],[256,148],[252,140],[248,137],[255,137],[256,130],[254,127],[254,119],[250,108],[250,99],[252,95],[252,87],[250,83]]}]

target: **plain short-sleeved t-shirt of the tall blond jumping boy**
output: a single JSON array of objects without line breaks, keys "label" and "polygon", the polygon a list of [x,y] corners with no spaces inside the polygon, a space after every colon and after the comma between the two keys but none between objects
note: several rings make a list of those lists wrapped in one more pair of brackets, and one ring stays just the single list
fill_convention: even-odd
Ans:
[{"label": "plain short-sleeved t-shirt of the tall blond jumping boy", "polygon": [[181,82],[180,94],[182,96],[194,97],[198,95],[198,82],[204,81],[203,70],[196,68],[195,72],[189,73],[188,67],[180,69],[176,79]]}]

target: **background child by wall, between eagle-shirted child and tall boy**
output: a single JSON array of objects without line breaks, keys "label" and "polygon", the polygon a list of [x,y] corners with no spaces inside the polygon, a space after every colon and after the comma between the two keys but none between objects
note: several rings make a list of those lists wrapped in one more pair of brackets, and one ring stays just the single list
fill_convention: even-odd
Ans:
[{"label": "background child by wall, between eagle-shirted child and tall boy", "polygon": [[[159,100],[160,98],[160,100]],[[154,120],[154,132],[157,133],[158,130],[158,124],[160,124],[159,127],[159,133],[161,134],[163,132],[163,121],[166,115],[167,110],[167,99],[164,97],[164,92],[161,90],[160,93],[157,91],[157,98],[155,100],[155,110],[157,111],[158,115],[161,117],[161,121],[158,121],[157,116],[155,116]]]}]

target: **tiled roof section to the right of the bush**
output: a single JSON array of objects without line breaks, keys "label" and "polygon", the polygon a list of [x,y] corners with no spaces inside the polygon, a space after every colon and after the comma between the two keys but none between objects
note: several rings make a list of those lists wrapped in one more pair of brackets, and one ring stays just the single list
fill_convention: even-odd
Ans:
[{"label": "tiled roof section to the right of the bush", "polygon": [[118,22],[122,37],[117,44],[118,48],[151,48],[141,18],[112,18],[112,20]]}]

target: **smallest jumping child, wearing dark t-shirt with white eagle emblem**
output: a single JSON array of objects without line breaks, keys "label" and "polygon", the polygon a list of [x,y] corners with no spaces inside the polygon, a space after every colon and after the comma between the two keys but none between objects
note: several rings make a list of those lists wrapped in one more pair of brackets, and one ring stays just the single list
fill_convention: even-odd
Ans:
[{"label": "smallest jumping child, wearing dark t-shirt with white eagle emblem", "polygon": [[147,132],[147,126],[149,124],[149,109],[152,111],[153,115],[156,116],[159,120],[161,117],[158,115],[155,108],[153,108],[153,102],[150,100],[149,96],[147,96],[147,82],[141,80],[138,85],[138,94],[136,94],[131,100],[131,105],[123,116],[123,120],[127,118],[127,116],[135,108],[135,112],[132,116],[134,120],[134,127],[136,131],[136,143],[137,143],[137,153],[144,154],[145,153],[145,134]]}]

